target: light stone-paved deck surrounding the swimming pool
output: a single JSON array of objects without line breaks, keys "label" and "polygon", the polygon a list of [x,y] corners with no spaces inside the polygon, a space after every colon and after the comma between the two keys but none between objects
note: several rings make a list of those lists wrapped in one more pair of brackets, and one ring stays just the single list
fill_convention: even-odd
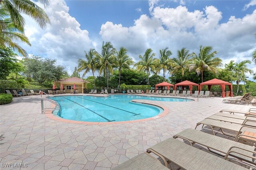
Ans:
[{"label": "light stone-paved deck surrounding the swimming pool", "polygon": [[1,169],[20,169],[2,167],[12,163],[27,166],[21,169],[108,170],[182,130],[194,128],[221,109],[247,111],[253,107],[221,103],[221,97],[188,99],[195,101],[138,100],[162,106],[168,113],[152,120],[88,125],[41,114],[39,95],[14,97],[12,103],[0,106]]}]

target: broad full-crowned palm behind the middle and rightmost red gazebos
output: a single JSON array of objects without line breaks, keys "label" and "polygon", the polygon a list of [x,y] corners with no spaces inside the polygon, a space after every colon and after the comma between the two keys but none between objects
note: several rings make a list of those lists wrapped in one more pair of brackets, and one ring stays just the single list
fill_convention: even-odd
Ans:
[{"label": "broad full-crowned palm behind the middle and rightmost red gazebos", "polygon": [[202,83],[204,71],[210,71],[212,73],[218,73],[217,67],[222,65],[222,60],[219,57],[215,57],[215,55],[218,53],[217,51],[212,51],[211,46],[205,46],[203,47],[200,45],[200,51],[199,54],[196,55],[196,53],[192,53],[192,64],[189,65],[189,71],[195,70],[197,75],[201,74]]}]

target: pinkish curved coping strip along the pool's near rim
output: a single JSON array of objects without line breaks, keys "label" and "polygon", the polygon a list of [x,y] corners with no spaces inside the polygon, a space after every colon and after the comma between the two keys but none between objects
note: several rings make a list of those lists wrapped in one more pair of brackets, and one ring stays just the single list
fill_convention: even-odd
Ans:
[{"label": "pinkish curved coping strip along the pool's near rim", "polygon": [[[169,109],[165,106],[158,105],[156,103],[152,103],[151,101],[144,101],[144,100],[132,100],[134,103],[142,103],[142,104],[147,104],[147,105],[153,105],[162,108],[164,111],[154,117],[149,117],[146,119],[139,119],[139,120],[133,120],[133,121],[119,121],[119,122],[86,122],[86,121],[73,121],[73,120],[68,120],[68,119],[63,119],[62,117],[59,117],[58,115],[53,115],[54,111],[46,111],[44,115],[46,117],[54,120],[54,121],[60,121],[60,122],[65,122],[65,123],[74,123],[74,124],[83,124],[83,125],[115,125],[115,124],[124,124],[124,123],[137,123],[137,122],[143,122],[143,121],[152,121],[155,119],[159,119],[161,117],[164,117],[169,113]],[[51,108],[56,107],[55,104],[51,103]]]}]

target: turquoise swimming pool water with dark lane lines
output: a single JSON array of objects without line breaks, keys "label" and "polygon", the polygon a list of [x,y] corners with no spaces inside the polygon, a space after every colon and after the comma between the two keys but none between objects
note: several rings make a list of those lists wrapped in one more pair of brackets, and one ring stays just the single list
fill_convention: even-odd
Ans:
[{"label": "turquoise swimming pool water with dark lane lines", "polygon": [[110,95],[109,97],[57,96],[49,98],[60,104],[61,112],[58,113],[58,116],[64,119],[88,122],[146,119],[154,117],[163,111],[160,107],[131,102],[133,99],[191,101],[190,99],[137,95]]}]

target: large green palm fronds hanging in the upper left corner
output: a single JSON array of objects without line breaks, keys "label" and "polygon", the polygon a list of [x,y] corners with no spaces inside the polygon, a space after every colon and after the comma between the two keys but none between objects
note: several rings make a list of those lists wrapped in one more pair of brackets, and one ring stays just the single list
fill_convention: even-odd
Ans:
[{"label": "large green palm fronds hanging in the upper left corner", "polygon": [[[36,1],[45,6],[49,4],[48,0]],[[41,28],[46,28],[50,20],[44,10],[30,0],[0,0],[0,45],[12,47],[26,56],[26,51],[14,42],[30,45],[28,38],[24,35],[25,20],[21,13],[33,18]]]}]

